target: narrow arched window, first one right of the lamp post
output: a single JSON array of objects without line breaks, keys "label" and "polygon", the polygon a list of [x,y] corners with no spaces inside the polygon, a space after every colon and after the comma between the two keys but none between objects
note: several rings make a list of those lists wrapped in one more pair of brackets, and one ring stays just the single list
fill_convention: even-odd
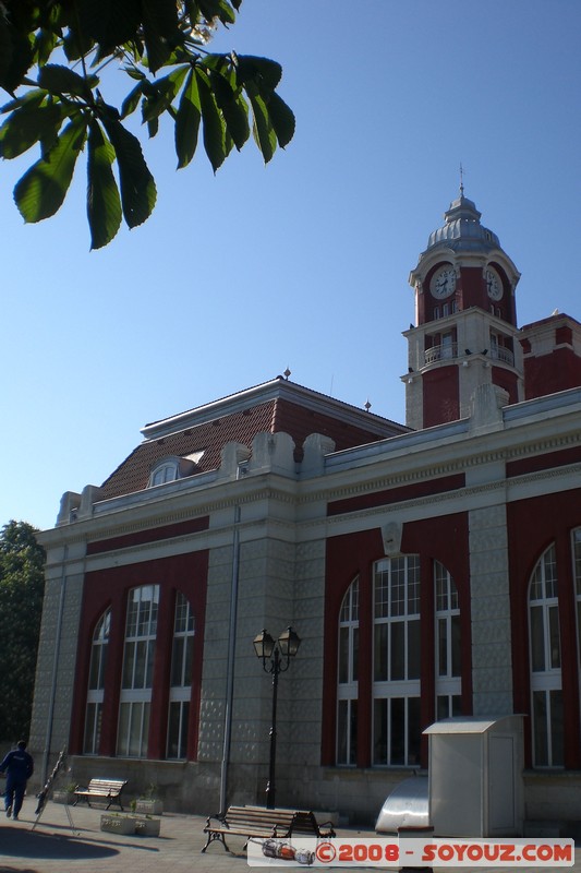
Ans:
[{"label": "narrow arched window, first one right of the lamp post", "polygon": [[337,764],[354,765],[358,746],[359,576],[339,613]]}]

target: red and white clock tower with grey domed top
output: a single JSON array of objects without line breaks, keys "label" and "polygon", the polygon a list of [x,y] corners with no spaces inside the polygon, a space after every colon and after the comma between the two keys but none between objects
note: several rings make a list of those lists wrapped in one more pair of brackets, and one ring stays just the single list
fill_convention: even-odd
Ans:
[{"label": "red and white clock tower with grey domed top", "polygon": [[480,385],[503,403],[524,398],[515,289],[520,273],[484,227],[475,204],[460,196],[410,274],[415,324],[408,339],[406,419],[414,429],[470,414]]}]

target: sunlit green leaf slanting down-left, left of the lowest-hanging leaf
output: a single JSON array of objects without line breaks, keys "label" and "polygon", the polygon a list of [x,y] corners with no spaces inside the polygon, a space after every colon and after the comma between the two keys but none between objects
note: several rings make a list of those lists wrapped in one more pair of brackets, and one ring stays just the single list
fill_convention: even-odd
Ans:
[{"label": "sunlit green leaf slanting down-left, left of the lowest-hanging leaf", "polygon": [[66,125],[45,157],[16,182],[14,200],[25,222],[41,222],[62,206],[86,134],[87,118],[80,113]]}]

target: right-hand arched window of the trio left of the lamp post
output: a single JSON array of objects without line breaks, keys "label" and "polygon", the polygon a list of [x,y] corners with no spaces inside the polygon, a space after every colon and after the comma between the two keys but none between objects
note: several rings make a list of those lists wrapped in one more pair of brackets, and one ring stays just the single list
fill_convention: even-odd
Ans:
[{"label": "right-hand arched window of the trio left of the lamp post", "polygon": [[195,622],[190,601],[179,593],[173,621],[173,648],[171,654],[171,685],[169,693],[168,743],[169,758],[185,758],[192,694],[192,665]]}]

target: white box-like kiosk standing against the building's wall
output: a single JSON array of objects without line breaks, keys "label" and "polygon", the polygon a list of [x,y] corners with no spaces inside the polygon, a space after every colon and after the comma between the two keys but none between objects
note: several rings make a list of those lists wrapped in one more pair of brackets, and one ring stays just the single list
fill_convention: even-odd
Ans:
[{"label": "white box-like kiosk standing against the building's wall", "polygon": [[428,817],[435,836],[522,834],[522,716],[448,718],[431,725]]}]

